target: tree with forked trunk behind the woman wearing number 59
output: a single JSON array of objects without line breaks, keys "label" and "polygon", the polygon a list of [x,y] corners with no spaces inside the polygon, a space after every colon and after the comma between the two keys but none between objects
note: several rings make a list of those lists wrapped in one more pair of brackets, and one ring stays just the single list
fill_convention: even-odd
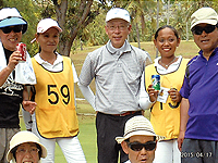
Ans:
[{"label": "tree with forked trunk behind the woman wearing number 59", "polygon": [[43,17],[56,13],[57,21],[63,29],[59,43],[59,51],[63,55],[70,55],[76,36],[95,20],[99,9],[106,4],[104,0],[38,0],[37,3],[44,7]]}]

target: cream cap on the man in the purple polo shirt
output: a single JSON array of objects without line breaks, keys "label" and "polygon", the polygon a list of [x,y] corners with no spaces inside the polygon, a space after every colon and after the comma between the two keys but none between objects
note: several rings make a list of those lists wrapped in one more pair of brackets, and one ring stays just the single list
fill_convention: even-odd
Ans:
[{"label": "cream cap on the man in the purple polo shirt", "polygon": [[191,29],[201,23],[216,25],[218,23],[217,12],[208,7],[198,9],[191,16]]}]

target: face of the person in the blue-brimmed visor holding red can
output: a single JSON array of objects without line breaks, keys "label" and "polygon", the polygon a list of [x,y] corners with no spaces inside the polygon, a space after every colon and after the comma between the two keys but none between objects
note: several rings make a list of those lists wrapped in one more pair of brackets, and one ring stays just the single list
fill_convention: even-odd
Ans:
[{"label": "face of the person in the blue-brimmed visor holding red can", "polygon": [[[11,26],[11,27],[14,27],[14,26]],[[1,38],[1,42],[3,47],[7,50],[15,51],[16,45],[21,41],[22,32],[14,33],[13,30],[11,30],[11,33],[4,34],[2,29],[0,29],[0,38]]]}]

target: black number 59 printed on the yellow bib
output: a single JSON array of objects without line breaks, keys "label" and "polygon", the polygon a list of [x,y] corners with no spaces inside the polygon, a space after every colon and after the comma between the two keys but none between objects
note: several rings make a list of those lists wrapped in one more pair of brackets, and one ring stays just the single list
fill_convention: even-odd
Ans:
[{"label": "black number 59 printed on the yellow bib", "polygon": [[[57,104],[59,102],[59,96],[58,93],[52,90],[52,88],[57,88],[57,85],[48,85],[48,96],[51,96],[53,95],[55,96],[55,100],[52,101],[51,99],[48,99],[48,101],[51,103],[51,104]],[[61,91],[61,95],[63,96],[63,102],[65,104],[69,103],[70,101],[70,91],[69,91],[69,88],[66,85],[63,85],[61,88],[60,88],[60,91]]]}]

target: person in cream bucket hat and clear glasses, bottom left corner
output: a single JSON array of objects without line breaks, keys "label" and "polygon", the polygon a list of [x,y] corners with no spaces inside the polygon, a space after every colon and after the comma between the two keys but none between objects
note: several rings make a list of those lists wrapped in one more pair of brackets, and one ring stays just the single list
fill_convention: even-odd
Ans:
[{"label": "person in cream bucket hat and clear glasses, bottom left corner", "polygon": [[10,141],[7,159],[13,163],[38,163],[40,158],[46,158],[47,150],[39,142],[39,138],[27,130],[19,131]]}]

